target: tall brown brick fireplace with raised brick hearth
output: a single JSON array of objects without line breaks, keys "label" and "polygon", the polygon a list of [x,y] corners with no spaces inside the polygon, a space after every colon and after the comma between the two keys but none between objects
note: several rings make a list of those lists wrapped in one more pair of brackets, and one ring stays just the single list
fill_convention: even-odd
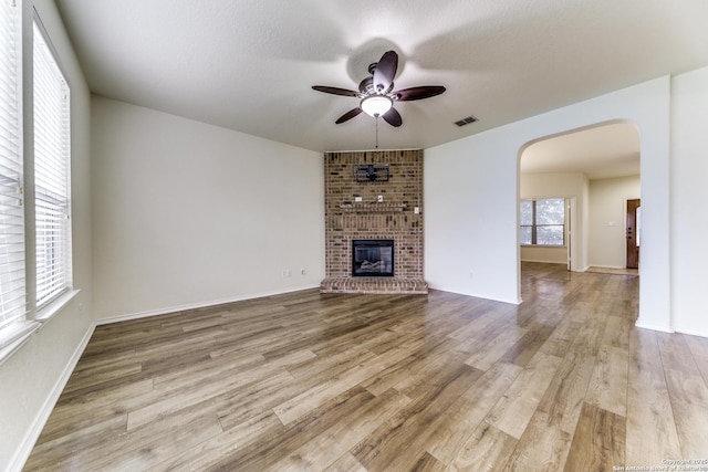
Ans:
[{"label": "tall brown brick fireplace with raised brick hearth", "polygon": [[[427,294],[423,150],[326,153],[324,179],[325,279],[320,291]],[[393,241],[393,276],[354,276],[353,241],[382,240]]]}]

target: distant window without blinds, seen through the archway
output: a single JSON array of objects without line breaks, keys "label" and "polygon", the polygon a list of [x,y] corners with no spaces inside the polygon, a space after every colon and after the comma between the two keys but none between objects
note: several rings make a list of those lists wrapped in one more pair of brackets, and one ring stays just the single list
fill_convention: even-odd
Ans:
[{"label": "distant window without blinds, seen through the archway", "polygon": [[522,245],[564,245],[565,199],[522,200],[519,239]]}]

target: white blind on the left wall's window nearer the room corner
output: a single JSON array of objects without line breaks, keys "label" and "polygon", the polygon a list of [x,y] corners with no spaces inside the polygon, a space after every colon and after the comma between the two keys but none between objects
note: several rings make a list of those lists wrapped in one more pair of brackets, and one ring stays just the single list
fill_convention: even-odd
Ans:
[{"label": "white blind on the left wall's window nearer the room corner", "polygon": [[34,199],[37,307],[72,284],[70,90],[42,29],[34,23]]}]

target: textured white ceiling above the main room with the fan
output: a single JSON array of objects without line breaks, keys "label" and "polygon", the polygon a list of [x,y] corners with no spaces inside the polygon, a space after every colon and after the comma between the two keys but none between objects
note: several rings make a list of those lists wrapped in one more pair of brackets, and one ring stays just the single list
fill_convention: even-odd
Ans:
[{"label": "textured white ceiling above the main room with the fan", "polygon": [[[317,151],[371,149],[355,88],[386,49],[397,103],[381,148],[427,148],[708,64],[706,0],[56,0],[91,90]],[[479,122],[457,127],[475,115]]]}]

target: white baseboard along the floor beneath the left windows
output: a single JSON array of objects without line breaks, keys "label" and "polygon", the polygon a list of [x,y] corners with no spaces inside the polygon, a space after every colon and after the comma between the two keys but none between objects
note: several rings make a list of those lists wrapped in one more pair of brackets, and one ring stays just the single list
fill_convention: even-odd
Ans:
[{"label": "white baseboard along the floor beneath the left windows", "polygon": [[64,367],[61,377],[59,378],[59,380],[56,380],[56,384],[54,384],[52,392],[49,395],[49,397],[46,397],[44,405],[42,405],[42,408],[40,408],[37,417],[34,417],[34,421],[32,422],[27,434],[24,434],[24,438],[22,439],[22,442],[20,443],[18,450],[14,452],[14,455],[10,460],[10,464],[6,469],[8,472],[21,471],[24,466],[24,463],[30,458],[30,453],[32,452],[37,440],[40,439],[40,434],[42,433],[42,430],[44,429],[44,426],[49,420],[49,416],[52,413],[52,410],[54,409],[59,397],[64,390],[64,387],[66,387],[66,382],[69,382],[69,378],[73,374],[76,364],[79,364],[79,359],[88,345],[88,340],[91,339],[91,336],[93,335],[95,328],[96,324],[92,323],[91,326],[88,326],[88,329],[86,329],[86,334],[81,339],[81,343],[79,343],[79,346],[76,346],[76,349],[74,349],[74,354],[69,359],[69,363],[66,364],[66,367]]}]

